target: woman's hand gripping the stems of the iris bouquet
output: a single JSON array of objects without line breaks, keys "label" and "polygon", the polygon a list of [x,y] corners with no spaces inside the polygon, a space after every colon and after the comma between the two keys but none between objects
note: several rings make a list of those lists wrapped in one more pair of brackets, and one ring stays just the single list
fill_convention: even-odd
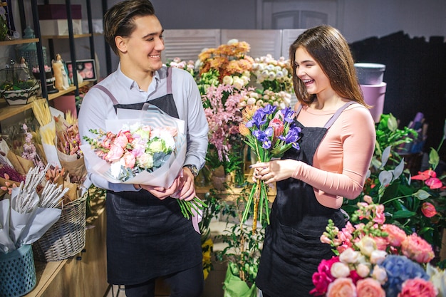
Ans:
[{"label": "woman's hand gripping the stems of the iris bouquet", "polygon": [[254,178],[263,180],[266,184],[279,182],[291,177],[296,170],[296,160],[274,160],[251,165],[254,168]]}]

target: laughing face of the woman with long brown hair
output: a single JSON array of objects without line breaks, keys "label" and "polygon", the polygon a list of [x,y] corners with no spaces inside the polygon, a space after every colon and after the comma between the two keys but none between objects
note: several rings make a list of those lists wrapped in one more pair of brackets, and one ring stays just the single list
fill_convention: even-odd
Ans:
[{"label": "laughing face of the woman with long brown hair", "polygon": [[308,94],[318,94],[327,88],[331,89],[328,76],[305,48],[297,48],[295,58],[296,75],[306,86]]}]

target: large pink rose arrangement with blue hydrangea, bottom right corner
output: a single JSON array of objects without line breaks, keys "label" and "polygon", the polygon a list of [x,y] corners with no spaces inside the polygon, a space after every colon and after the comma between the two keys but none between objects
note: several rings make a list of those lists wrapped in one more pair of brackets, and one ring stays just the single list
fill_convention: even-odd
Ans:
[{"label": "large pink rose arrangement with blue hydrangea, bottom right corner", "polygon": [[384,207],[373,204],[371,197],[364,200],[351,217],[357,224],[349,221],[339,230],[328,222],[321,241],[330,244],[336,256],[321,261],[310,293],[436,297],[442,285],[431,281],[425,269],[435,256],[432,246],[415,233],[406,235],[398,226],[385,224]]}]

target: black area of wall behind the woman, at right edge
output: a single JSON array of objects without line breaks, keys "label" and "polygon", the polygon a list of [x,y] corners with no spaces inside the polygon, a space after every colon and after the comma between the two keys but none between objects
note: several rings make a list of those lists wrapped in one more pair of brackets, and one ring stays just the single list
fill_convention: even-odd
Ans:
[{"label": "black area of wall behind the woman, at right edge", "polygon": [[[403,31],[382,38],[351,43],[356,62],[385,65],[387,83],[383,113],[392,113],[400,127],[421,112],[425,115],[427,140],[423,151],[437,149],[446,119],[446,43],[442,36],[410,38]],[[446,160],[446,143],[440,150]]]}]

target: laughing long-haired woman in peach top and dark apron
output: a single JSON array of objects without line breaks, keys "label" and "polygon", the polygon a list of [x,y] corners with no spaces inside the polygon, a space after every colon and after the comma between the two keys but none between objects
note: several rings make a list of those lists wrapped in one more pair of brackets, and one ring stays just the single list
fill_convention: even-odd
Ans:
[{"label": "laughing long-haired woman in peach top and dark apron", "polygon": [[277,182],[256,285],[264,297],[311,296],[311,276],[333,256],[320,237],[328,219],[341,229],[343,198],[363,189],[375,125],[363,100],[348,43],[317,26],[290,46],[300,150],[257,163],[254,177]]}]

